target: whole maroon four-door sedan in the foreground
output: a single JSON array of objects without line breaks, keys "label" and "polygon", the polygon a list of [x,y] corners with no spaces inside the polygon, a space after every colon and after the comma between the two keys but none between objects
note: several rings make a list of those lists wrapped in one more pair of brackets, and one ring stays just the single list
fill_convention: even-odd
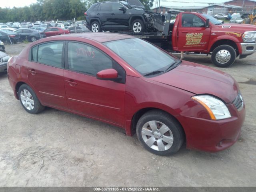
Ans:
[{"label": "whole maroon four-door sedan in the foreground", "polygon": [[16,99],[32,114],[44,106],[137,132],[152,153],[216,152],[239,137],[244,100],[234,78],[179,60],[133,36],[54,36],[8,61]]}]

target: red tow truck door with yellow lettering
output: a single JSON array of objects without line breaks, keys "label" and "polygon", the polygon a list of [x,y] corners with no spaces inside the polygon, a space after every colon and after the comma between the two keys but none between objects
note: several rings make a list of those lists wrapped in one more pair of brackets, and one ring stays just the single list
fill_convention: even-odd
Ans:
[{"label": "red tow truck door with yellow lettering", "polygon": [[206,21],[193,13],[182,13],[178,19],[178,51],[207,50],[211,28],[205,27]]}]

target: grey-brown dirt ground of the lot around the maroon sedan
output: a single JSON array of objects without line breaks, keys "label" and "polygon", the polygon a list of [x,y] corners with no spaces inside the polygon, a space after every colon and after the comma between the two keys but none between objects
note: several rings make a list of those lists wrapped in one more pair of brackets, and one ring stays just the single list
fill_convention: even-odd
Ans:
[{"label": "grey-brown dirt ground of the lot around the maroon sedan", "polygon": [[[185,60],[216,68],[210,56]],[[0,74],[0,186],[256,186],[256,54],[218,69],[239,82],[246,103],[238,142],[218,153],[182,146],[169,157],[102,122],[52,108],[29,114]]]}]

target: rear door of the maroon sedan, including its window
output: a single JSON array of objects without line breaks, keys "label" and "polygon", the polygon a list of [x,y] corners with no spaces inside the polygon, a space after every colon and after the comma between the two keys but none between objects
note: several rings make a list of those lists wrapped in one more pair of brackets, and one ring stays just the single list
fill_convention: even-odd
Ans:
[{"label": "rear door of the maroon sedan, including its window", "polygon": [[32,47],[28,80],[46,106],[67,108],[62,52],[63,41],[46,42]]}]

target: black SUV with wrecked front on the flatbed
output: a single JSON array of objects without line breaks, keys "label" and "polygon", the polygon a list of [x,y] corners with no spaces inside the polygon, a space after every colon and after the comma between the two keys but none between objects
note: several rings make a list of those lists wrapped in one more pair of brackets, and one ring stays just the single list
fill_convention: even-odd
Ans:
[{"label": "black SUV with wrecked front on the flatbed", "polygon": [[165,16],[148,12],[138,0],[105,1],[93,4],[84,13],[86,26],[92,32],[132,30],[162,30]]}]

